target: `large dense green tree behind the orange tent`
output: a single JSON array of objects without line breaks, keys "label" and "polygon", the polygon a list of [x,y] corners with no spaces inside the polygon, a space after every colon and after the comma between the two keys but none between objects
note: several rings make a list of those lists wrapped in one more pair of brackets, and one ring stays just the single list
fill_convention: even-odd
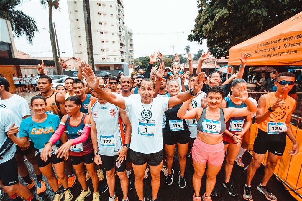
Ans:
[{"label": "large dense green tree behind the orange tent", "polygon": [[302,0],[198,0],[191,42],[207,47],[216,57],[228,56],[230,47],[280,24],[302,11]]}]

